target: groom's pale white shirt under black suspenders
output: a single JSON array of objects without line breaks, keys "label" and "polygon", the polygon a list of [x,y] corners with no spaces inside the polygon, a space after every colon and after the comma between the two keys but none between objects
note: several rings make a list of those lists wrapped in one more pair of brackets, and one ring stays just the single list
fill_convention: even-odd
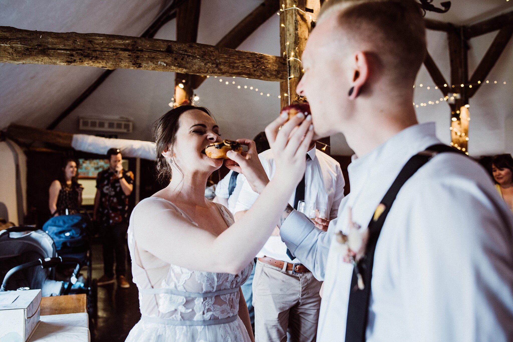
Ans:
[{"label": "groom's pale white shirt under black suspenders", "polygon": [[[409,127],[349,165],[351,192],[328,232],[293,211],[281,227],[291,252],[324,279],[319,341],[344,340],[352,266],[334,232],[368,225],[407,160],[439,144],[435,124]],[[367,341],[513,340],[513,216],[488,174],[442,153],[399,192],[372,272]]]}]

